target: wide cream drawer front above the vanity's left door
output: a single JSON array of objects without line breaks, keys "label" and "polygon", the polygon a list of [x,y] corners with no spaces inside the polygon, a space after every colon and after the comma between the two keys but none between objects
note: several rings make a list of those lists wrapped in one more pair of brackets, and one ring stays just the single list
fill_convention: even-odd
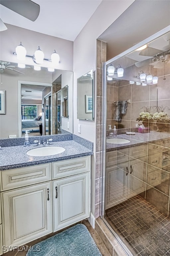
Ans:
[{"label": "wide cream drawer front above the vanity's left door", "polygon": [[51,180],[51,164],[1,171],[1,191]]}]

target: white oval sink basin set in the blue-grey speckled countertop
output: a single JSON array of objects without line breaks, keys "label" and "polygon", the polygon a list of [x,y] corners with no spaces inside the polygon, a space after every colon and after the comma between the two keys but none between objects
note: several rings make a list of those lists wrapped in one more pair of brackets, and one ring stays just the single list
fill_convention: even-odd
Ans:
[{"label": "white oval sink basin set in the blue-grey speckled countertop", "polygon": [[57,146],[46,146],[41,148],[34,148],[27,152],[29,156],[51,156],[62,153],[65,151],[65,148]]}]

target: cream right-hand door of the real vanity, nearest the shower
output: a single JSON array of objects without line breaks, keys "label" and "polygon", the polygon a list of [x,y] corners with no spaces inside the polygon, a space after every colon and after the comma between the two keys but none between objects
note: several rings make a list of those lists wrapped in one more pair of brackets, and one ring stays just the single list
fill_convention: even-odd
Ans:
[{"label": "cream right-hand door of the real vanity, nearest the shower", "polygon": [[53,232],[89,215],[89,172],[53,181]]}]

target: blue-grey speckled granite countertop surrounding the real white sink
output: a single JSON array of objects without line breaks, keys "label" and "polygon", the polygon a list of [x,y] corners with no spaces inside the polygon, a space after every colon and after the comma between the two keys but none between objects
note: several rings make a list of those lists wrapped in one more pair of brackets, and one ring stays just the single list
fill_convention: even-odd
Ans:
[{"label": "blue-grey speckled granite countertop surrounding the real white sink", "polygon": [[74,140],[53,142],[50,143],[50,145],[63,147],[65,148],[65,151],[56,155],[36,157],[26,154],[30,149],[38,147],[34,144],[26,147],[23,145],[2,147],[0,149],[0,170],[15,169],[93,155],[92,150],[82,146]]}]

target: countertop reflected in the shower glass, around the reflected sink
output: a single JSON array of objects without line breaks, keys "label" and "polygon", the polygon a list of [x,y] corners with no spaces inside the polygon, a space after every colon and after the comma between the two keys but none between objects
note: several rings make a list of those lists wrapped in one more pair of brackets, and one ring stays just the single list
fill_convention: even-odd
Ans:
[{"label": "countertop reflected in the shower glass, around the reflected sink", "polygon": [[155,140],[170,138],[170,134],[167,132],[156,132],[156,131],[150,131],[149,133],[136,132],[135,135],[121,134],[116,136],[116,138],[128,139],[130,142],[124,143],[124,144],[111,144],[107,142],[106,143],[107,151],[116,150],[117,148],[119,149],[126,148],[126,147],[137,145],[137,144],[140,145],[140,144],[155,141]]}]

